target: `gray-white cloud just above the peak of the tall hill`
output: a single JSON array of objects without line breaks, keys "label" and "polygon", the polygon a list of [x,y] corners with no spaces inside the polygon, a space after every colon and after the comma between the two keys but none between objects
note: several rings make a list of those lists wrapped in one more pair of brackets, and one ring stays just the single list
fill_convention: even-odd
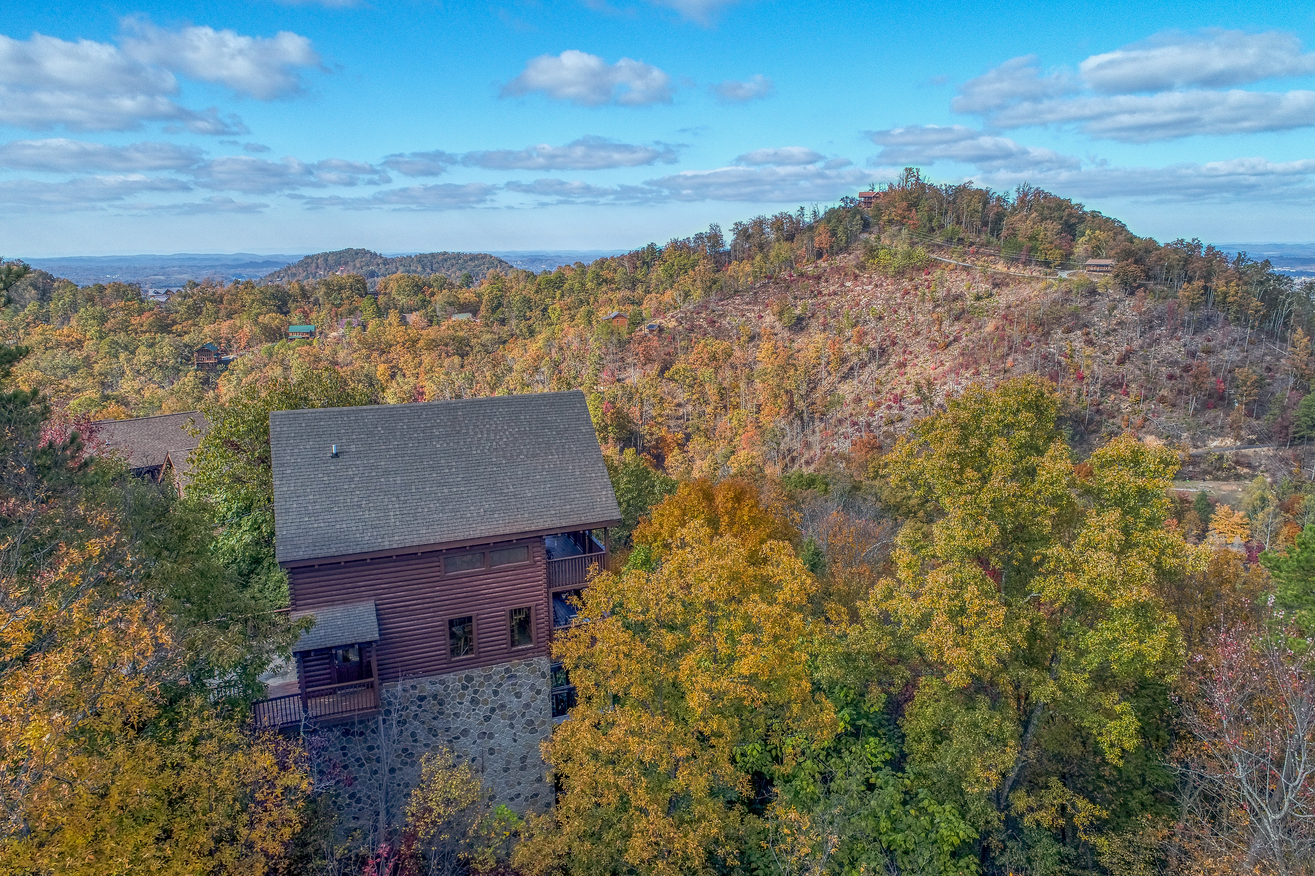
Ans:
[{"label": "gray-white cloud just above the peak of the tall hill", "polygon": [[880,165],[960,162],[984,171],[1076,168],[1078,159],[1053,150],[1022,146],[1007,137],[984,134],[963,125],[917,125],[872,131],[882,150],[873,159]]}]

